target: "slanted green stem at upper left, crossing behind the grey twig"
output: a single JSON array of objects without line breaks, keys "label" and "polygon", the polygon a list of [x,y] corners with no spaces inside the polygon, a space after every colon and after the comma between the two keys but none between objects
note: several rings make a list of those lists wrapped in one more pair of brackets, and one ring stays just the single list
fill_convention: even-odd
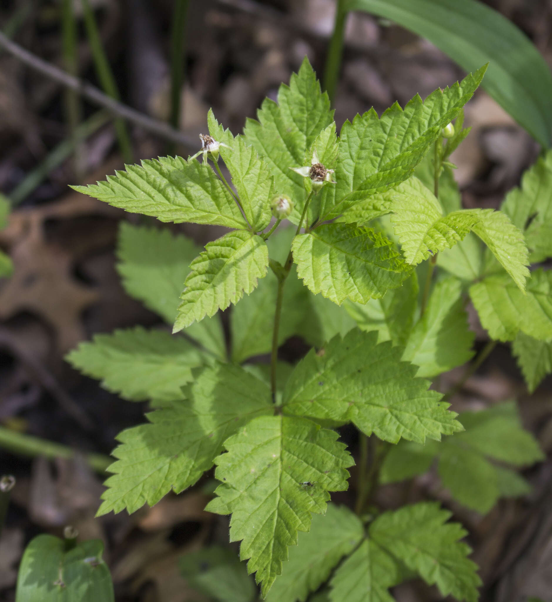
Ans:
[{"label": "slanted green stem at upper left, crossing behind the grey twig", "polygon": [[[90,49],[92,51],[92,57],[94,59],[94,65],[99,81],[104,92],[108,96],[111,96],[111,98],[116,101],[120,101],[119,90],[117,89],[113,72],[111,71],[109,61],[105,55],[104,47],[102,46],[102,40],[98,31],[94,11],[91,9],[88,0],[81,0],[81,2],[84,14],[84,26],[86,28],[88,42],[90,43]],[[116,119],[114,123],[123,160],[125,160],[125,163],[134,163],[132,144],[128,135],[128,130],[126,129],[126,123],[123,119]]]}]

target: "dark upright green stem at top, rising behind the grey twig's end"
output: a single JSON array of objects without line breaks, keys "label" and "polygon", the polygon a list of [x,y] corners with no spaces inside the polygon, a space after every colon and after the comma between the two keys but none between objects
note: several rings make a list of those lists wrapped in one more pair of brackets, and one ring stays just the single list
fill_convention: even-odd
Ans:
[{"label": "dark upright green stem at top, rising behind the grey twig's end", "polygon": [[[170,58],[170,125],[175,129],[179,129],[180,127],[188,4],[188,0],[175,0],[175,8],[173,9]],[[175,147],[176,144],[174,142],[169,144],[169,155],[175,154]]]}]

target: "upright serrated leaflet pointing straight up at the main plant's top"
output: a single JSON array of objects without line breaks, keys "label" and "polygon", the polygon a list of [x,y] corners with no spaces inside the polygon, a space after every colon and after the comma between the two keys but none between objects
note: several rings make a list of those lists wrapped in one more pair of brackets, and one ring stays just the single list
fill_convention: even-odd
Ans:
[{"label": "upright serrated leaflet pointing straight up at the main plant's top", "polygon": [[258,121],[247,119],[244,136],[268,164],[279,194],[294,201],[290,221],[299,223],[306,191],[303,176],[291,170],[302,167],[305,154],[318,134],[333,123],[327,94],[305,58],[290,85],[282,84],[278,104],[265,99],[257,113]]}]

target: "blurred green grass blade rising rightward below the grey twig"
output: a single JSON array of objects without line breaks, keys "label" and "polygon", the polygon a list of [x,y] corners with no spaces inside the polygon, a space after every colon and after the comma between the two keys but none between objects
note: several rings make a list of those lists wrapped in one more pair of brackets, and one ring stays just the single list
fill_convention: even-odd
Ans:
[{"label": "blurred green grass blade rising rightward below the grey twig", "polygon": [[13,205],[19,205],[26,197],[29,196],[40,185],[40,183],[48,176],[48,174],[59,167],[63,161],[70,157],[75,143],[82,142],[94,132],[98,131],[111,119],[107,111],[98,111],[93,114],[85,122],[82,122],[75,129],[75,138],[67,138],[52,149],[46,155],[45,159],[33,171],[29,172],[16,188],[14,188],[8,196]]}]

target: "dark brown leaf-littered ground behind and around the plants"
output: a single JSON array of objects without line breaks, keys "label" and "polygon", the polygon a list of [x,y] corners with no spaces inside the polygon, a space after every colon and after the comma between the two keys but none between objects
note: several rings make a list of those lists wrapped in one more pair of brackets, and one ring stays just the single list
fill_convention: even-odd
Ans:
[{"label": "dark brown leaf-littered ground behind and around the plants", "polygon": [[[0,24],[13,23],[10,19],[25,3],[4,0]],[[97,0],[93,4],[123,100],[166,119],[172,2]],[[198,146],[197,134],[205,130],[209,107],[237,132],[247,116],[254,116],[265,96],[275,98],[280,82],[288,81],[305,54],[318,72],[323,70],[332,0],[259,0],[255,14],[231,6],[239,2],[190,4],[182,122]],[[488,4],[523,29],[552,63],[549,2],[495,0]],[[46,60],[61,64],[58,6],[57,2],[36,0],[15,39]],[[79,62],[81,76],[98,84],[83,31]],[[415,93],[424,97],[461,76],[457,66],[424,40],[369,16],[352,16],[335,103],[336,120],[341,125],[372,105],[378,111],[395,100],[404,105]],[[97,110],[87,103],[83,107],[85,117]],[[497,207],[504,192],[518,183],[521,172],[532,163],[538,148],[483,92],[468,105],[467,122],[473,131],[454,157],[464,205]],[[138,128],[131,130],[136,158],[166,153],[164,141]],[[10,194],[28,182],[29,173],[66,138],[61,88],[0,54],[0,190]],[[103,179],[122,166],[112,125],[88,138],[82,157],[82,182]],[[10,225],[0,232],[0,247],[10,252],[16,265],[14,277],[0,282],[0,420],[5,426],[82,452],[107,454],[117,432],[143,420],[144,405],[118,400],[97,382],[72,371],[63,356],[95,332],[152,325],[158,318],[125,296],[114,270],[117,222],[134,218],[69,191],[67,184],[79,183],[73,167],[71,161],[65,161],[30,186]],[[214,229],[202,226],[175,229],[199,243],[216,237]],[[486,334],[475,320],[473,327],[480,348]],[[290,340],[282,355],[297,359],[304,352],[301,341]],[[455,382],[463,371],[459,368],[446,375],[442,385]],[[49,385],[52,378],[54,386]],[[498,346],[453,404],[462,410],[516,397],[524,423],[549,453],[551,391],[552,379],[547,379],[529,397],[509,349]],[[79,409],[85,412],[84,418]],[[354,435],[345,432],[347,437],[354,452]],[[96,520],[93,515],[101,480],[83,461],[30,461],[0,451],[0,467],[1,473],[17,477],[8,529],[0,542],[0,600],[14,599],[23,545],[39,532],[60,535],[69,523],[83,538],[107,541],[106,557],[120,602],[196,600],[177,574],[176,557],[205,542],[225,542],[228,537],[225,518],[202,512],[204,482],[132,517],[121,514]],[[384,488],[380,501],[392,507],[405,498],[444,500],[470,529],[474,559],[482,567],[485,581],[482,599],[521,601],[525,599],[523,582],[540,583],[539,591],[552,592],[552,462],[537,465],[526,477],[534,486],[533,494],[523,500],[501,501],[486,517],[455,506],[431,478],[416,481],[408,491]],[[354,494],[352,489],[343,500]],[[522,589],[516,591],[514,582],[521,583]],[[397,588],[395,597],[400,602],[439,599],[435,591],[418,583]]]}]

